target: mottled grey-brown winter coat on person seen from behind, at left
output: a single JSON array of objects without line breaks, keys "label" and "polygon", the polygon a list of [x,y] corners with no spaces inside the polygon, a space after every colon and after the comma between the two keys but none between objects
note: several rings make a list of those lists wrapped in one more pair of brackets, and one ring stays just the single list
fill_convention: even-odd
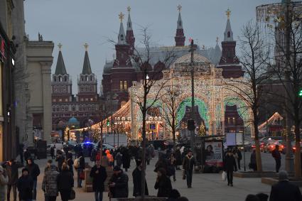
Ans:
[{"label": "mottled grey-brown winter coat on person seen from behind, at left", "polygon": [[55,165],[50,165],[48,170],[45,171],[42,182],[42,190],[44,191],[46,196],[58,195],[58,175],[59,172]]}]

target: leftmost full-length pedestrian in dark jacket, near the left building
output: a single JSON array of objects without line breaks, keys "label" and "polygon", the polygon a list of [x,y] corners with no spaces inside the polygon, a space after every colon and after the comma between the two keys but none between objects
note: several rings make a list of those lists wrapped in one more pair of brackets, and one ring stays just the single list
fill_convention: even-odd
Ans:
[{"label": "leftmost full-length pedestrian in dark jacket, near the left building", "polygon": [[6,162],[6,174],[9,177],[9,183],[7,183],[7,200],[11,198],[11,189],[13,189],[14,201],[17,200],[17,183],[18,183],[18,168],[21,168],[23,165],[16,163],[14,159]]}]

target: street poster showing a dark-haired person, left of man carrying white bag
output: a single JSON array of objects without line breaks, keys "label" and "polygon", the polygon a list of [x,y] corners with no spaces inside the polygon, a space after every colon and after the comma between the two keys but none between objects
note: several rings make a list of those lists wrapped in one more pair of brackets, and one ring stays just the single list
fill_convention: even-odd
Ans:
[{"label": "street poster showing a dark-haired person, left of man carrying white bag", "polygon": [[205,141],[205,165],[222,167],[222,141]]}]

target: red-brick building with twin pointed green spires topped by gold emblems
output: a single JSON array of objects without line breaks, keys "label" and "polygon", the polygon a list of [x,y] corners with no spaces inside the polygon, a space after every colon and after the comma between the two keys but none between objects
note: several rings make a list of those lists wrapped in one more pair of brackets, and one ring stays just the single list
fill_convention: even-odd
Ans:
[{"label": "red-brick building with twin pointed green spires topped by gold emblems", "polygon": [[[78,121],[80,127],[89,126],[99,121],[99,95],[97,94],[97,77],[91,70],[88,45],[85,44],[85,56],[82,73],[77,79],[77,94],[72,94],[72,81],[68,74],[59,44],[59,55],[52,89],[53,130],[63,130],[69,123]],[[72,122],[71,122],[72,121]]]}]

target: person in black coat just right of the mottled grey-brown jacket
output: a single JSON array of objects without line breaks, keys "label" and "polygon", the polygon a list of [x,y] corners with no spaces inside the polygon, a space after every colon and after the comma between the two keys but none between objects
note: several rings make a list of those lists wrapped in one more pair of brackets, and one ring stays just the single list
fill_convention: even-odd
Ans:
[{"label": "person in black coat just right of the mottled grey-brown jacket", "polygon": [[70,192],[73,188],[73,176],[72,173],[69,171],[69,167],[67,163],[63,163],[62,165],[62,171],[58,175],[58,191],[61,195],[62,201],[68,201],[70,197]]}]

